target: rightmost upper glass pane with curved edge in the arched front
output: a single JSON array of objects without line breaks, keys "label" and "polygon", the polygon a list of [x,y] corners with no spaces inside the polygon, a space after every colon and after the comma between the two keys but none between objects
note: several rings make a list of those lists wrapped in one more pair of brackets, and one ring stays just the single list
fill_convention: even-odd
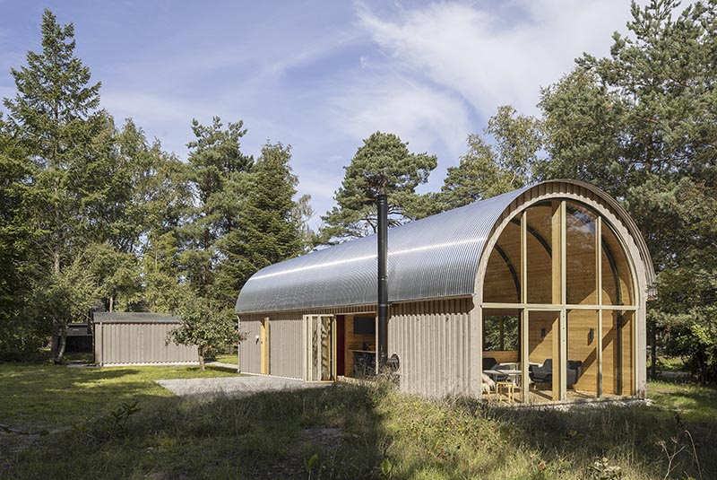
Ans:
[{"label": "rightmost upper glass pane with curved edge in the arched front", "polygon": [[634,305],[633,282],[625,252],[618,237],[603,223],[602,227],[602,304]]}]

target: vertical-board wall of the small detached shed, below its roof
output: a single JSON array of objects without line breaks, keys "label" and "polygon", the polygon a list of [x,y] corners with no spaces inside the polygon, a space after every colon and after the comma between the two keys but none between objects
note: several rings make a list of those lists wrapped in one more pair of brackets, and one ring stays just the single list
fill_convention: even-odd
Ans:
[{"label": "vertical-board wall of the small detached shed, below its roof", "polygon": [[196,363],[196,346],[165,345],[178,322],[102,321],[95,328],[95,359],[100,365]]}]

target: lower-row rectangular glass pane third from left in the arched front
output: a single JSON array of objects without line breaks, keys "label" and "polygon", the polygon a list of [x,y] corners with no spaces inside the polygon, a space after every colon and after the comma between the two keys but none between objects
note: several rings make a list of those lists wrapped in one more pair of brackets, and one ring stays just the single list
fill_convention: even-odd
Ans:
[{"label": "lower-row rectangular glass pane third from left in the arched front", "polygon": [[567,312],[567,397],[598,396],[598,311]]}]

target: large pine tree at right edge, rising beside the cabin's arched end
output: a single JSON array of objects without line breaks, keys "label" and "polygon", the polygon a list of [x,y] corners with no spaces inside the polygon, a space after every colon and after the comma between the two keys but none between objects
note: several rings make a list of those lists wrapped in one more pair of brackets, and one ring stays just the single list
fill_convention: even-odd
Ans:
[{"label": "large pine tree at right edge, rising beside the cabin's arched end", "polygon": [[573,177],[621,199],[658,271],[649,319],[662,345],[717,378],[717,1],[678,12],[633,4],[629,36],[585,55],[543,92],[543,178]]}]

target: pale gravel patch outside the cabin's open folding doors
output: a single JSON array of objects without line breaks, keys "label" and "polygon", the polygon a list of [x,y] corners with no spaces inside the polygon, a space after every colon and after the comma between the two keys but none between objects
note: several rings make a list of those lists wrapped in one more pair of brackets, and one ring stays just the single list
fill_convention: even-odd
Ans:
[{"label": "pale gravel patch outside the cabin's open folding doors", "polygon": [[189,395],[249,395],[256,392],[295,388],[320,388],[330,383],[307,383],[303,380],[280,379],[277,377],[246,376],[220,377],[216,379],[157,380],[157,383],[185,397]]}]

